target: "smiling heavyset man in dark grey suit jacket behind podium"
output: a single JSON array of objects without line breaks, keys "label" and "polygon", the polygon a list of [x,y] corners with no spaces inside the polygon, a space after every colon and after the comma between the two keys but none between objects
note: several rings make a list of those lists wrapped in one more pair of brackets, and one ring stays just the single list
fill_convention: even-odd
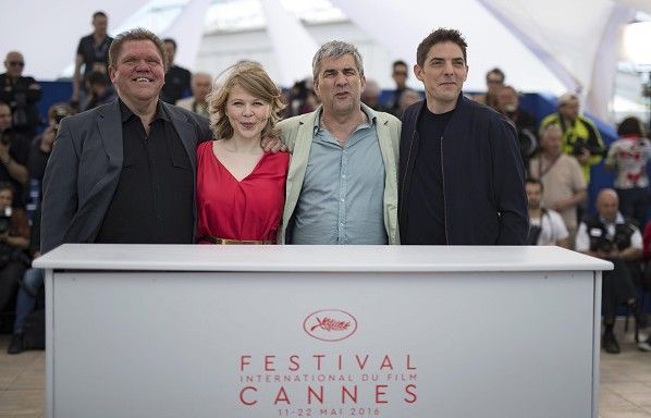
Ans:
[{"label": "smiling heavyset man in dark grey suit jacket behind podium", "polygon": [[164,46],[145,29],[109,51],[119,99],[64,119],[45,179],[44,253],[63,243],[192,243],[206,118],[159,100]]}]

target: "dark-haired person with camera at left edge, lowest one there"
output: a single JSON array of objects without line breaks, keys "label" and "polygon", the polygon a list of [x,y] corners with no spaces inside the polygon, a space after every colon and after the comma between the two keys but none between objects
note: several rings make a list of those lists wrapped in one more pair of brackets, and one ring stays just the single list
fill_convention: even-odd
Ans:
[{"label": "dark-haired person with camera at left edge, lowest one there", "polygon": [[13,206],[11,183],[0,183],[0,311],[14,297],[19,280],[29,263],[29,224],[24,209]]}]

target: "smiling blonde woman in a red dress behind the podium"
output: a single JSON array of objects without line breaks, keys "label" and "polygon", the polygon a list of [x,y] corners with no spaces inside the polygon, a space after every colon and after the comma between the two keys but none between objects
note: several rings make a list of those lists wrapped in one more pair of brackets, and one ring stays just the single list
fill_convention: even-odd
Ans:
[{"label": "smiling blonde woman in a red dress behind the podium", "polygon": [[265,152],[278,135],[281,93],[256,63],[233,66],[208,98],[216,140],[197,147],[198,242],[273,244],[282,221],[290,155]]}]

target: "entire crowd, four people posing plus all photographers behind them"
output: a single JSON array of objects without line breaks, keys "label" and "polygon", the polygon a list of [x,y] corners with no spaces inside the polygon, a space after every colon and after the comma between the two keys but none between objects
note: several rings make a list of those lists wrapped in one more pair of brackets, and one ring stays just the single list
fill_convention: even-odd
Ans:
[{"label": "entire crowd, four people posing plus all photographers behind them", "polygon": [[[63,243],[557,245],[615,265],[603,285],[607,353],[621,349],[618,308],[643,324],[651,143],[639,120],[622,121],[606,149],[575,94],[538,121],[495,67],[487,93],[466,97],[467,45],[454,29],[428,35],[413,69],[395,61],[382,101],[347,42],[321,46],[312,78],[283,93],[258,63],[214,85],[174,63],[174,39],[140,28],[111,38],[102,12],[93,26],[71,101],[50,108],[38,135],[41,89],[23,56],[10,52],[0,75],[9,353],[26,348],[42,288],[30,259]],[[410,72],[423,95],[407,87]],[[590,171],[602,161],[616,180],[592,216]]]}]

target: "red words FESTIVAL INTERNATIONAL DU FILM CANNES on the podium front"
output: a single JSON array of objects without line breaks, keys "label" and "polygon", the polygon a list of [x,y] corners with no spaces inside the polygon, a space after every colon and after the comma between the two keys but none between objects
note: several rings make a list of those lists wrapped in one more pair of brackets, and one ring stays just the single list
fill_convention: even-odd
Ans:
[{"label": "red words FESTIVAL INTERNATIONAL DU FILM CANNES on the podium front", "polygon": [[[416,381],[416,370],[408,354],[400,358],[390,355],[373,358],[369,354],[315,354],[303,357],[291,355],[284,359],[274,355],[242,355],[239,371],[243,373],[241,382],[244,385],[239,391],[239,402],[247,406],[269,401],[274,406],[293,403],[380,405],[389,404],[391,398],[414,404],[418,399],[416,384],[408,382]],[[295,384],[284,384],[296,382],[307,384],[298,389]],[[272,386],[271,394],[265,395],[267,391],[261,386],[274,383],[277,384]],[[396,390],[400,392],[394,393]]]}]

